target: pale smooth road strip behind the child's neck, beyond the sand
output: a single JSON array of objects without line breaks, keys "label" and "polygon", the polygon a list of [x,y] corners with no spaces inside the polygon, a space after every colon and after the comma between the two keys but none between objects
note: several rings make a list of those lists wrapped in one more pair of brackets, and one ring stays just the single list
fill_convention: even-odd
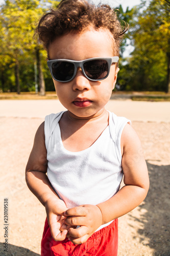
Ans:
[{"label": "pale smooth road strip behind the child's neck, beyond the sand", "polygon": [[[170,122],[170,102],[111,99],[106,109],[132,121]],[[44,118],[65,110],[59,100],[0,100],[0,117]]]}]

